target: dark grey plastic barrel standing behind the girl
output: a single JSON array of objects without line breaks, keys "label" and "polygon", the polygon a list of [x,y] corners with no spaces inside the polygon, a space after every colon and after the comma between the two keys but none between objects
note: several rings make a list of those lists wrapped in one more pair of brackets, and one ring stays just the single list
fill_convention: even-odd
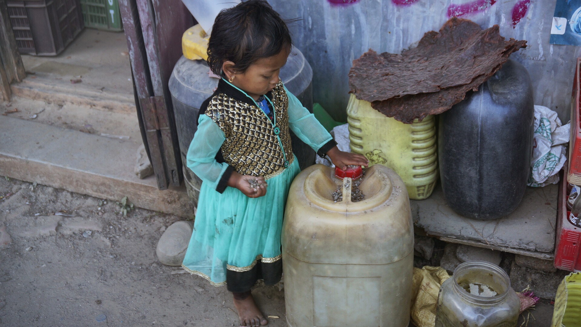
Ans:
[{"label": "dark grey plastic barrel standing behind the girl", "polygon": [[[292,54],[282,67],[280,78],[290,93],[299,98],[303,106],[313,112],[313,70],[304,58],[302,52],[293,48]],[[214,93],[218,79],[209,77],[210,68],[205,61],[192,61],[184,56],[178,60],[171,74],[169,88],[174,106],[175,125],[177,127],[180,153],[184,162],[184,181],[188,196],[197,207],[202,181],[185,166],[185,156],[193,134],[198,129],[198,111],[202,102]],[[295,134],[290,132],[292,148],[301,169],[310,166],[315,161],[315,151],[304,144]]]}]

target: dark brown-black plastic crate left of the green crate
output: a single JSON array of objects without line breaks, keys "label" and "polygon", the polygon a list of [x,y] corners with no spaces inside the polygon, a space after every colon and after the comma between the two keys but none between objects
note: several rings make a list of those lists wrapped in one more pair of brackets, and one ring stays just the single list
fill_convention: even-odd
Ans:
[{"label": "dark brown-black plastic crate left of the green crate", "polygon": [[21,54],[56,56],[84,27],[79,0],[9,0],[6,5]]}]

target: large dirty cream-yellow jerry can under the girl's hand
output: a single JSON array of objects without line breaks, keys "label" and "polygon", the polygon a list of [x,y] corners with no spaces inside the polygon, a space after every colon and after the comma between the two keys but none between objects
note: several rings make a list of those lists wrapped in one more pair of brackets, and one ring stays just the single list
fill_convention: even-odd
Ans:
[{"label": "large dirty cream-yellow jerry can under the girl's hand", "polygon": [[351,183],[313,165],[290,186],[282,228],[290,327],[408,326],[414,230],[406,187],[382,165],[367,169],[365,200],[351,201]]}]

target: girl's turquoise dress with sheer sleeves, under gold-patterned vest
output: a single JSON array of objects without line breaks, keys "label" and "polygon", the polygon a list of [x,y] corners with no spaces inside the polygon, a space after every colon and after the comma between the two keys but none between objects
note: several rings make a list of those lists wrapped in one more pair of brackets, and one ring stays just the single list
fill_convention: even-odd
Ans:
[{"label": "girl's turquoise dress with sheer sleeves, under gold-patterned vest", "polygon": [[[224,79],[220,81],[217,92],[221,90],[250,98]],[[324,155],[320,150],[328,151],[335,145],[331,135],[300,104],[295,95],[286,88],[284,90],[288,96],[286,110],[289,129],[319,155]],[[259,103],[252,102],[256,110],[261,110]],[[259,278],[264,278],[266,282],[267,276],[253,272],[257,265],[262,265],[263,271],[269,265],[276,266],[279,271],[282,269],[282,218],[290,183],[300,169],[294,158],[288,168],[267,179],[267,193],[263,197],[249,198],[232,187],[225,187],[223,193],[220,193],[217,190],[220,189],[218,184],[224,181],[223,175],[228,172],[228,163],[219,163],[216,155],[225,140],[224,131],[209,116],[200,115],[198,130],[189,146],[187,166],[203,182],[194,231],[182,266],[190,273],[209,280],[214,286],[224,285],[228,279],[228,290],[246,292],[246,288],[249,290],[248,285],[231,286],[231,283],[235,283],[231,279],[236,280],[242,276],[246,284],[253,284]],[[241,274],[238,276],[236,273]],[[252,273],[252,277],[245,273]],[[270,283],[278,282],[276,279],[271,277]]]}]

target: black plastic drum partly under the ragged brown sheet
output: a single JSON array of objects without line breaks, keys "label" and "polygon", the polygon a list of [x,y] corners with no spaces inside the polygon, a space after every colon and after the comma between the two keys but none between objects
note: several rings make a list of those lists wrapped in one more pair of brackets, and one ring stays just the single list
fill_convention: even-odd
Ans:
[{"label": "black plastic drum partly under the ragged brown sheet", "polygon": [[533,88],[525,67],[509,59],[439,119],[440,178],[450,207],[480,220],[514,211],[532,153]]}]

